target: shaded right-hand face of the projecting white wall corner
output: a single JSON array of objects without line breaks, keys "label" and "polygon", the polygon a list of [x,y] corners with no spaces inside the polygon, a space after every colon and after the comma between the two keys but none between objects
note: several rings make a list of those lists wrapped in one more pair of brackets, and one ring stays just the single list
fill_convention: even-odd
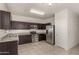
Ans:
[{"label": "shaded right-hand face of the projecting white wall corner", "polygon": [[68,49],[79,44],[79,16],[68,10]]}]

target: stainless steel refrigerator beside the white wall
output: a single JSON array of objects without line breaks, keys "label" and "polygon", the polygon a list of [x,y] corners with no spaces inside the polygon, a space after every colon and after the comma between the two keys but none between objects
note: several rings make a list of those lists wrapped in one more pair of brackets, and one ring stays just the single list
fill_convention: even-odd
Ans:
[{"label": "stainless steel refrigerator beside the white wall", "polygon": [[55,44],[55,25],[46,26],[46,42]]}]

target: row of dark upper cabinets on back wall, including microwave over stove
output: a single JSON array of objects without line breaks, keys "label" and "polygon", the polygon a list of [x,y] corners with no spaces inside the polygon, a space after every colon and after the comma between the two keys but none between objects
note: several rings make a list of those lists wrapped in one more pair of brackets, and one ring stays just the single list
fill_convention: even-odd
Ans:
[{"label": "row of dark upper cabinets on back wall, including microwave over stove", "polygon": [[46,29],[46,24],[11,21],[12,29]]}]

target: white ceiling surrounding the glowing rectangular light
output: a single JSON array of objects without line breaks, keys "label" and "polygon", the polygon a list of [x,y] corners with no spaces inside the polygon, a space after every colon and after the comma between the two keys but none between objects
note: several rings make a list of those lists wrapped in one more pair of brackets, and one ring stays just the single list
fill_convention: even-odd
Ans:
[{"label": "white ceiling surrounding the glowing rectangular light", "polygon": [[[79,14],[79,3],[7,3],[7,9],[13,14],[34,17],[38,19],[47,19],[65,8],[71,9]],[[30,9],[37,9],[45,12],[45,15],[38,15],[30,12]]]}]

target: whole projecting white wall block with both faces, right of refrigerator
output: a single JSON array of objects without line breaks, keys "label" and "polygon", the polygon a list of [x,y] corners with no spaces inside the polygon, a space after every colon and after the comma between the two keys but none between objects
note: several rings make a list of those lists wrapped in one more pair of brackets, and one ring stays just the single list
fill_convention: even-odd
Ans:
[{"label": "whole projecting white wall block with both faces, right of refrigerator", "polygon": [[65,9],[55,14],[56,45],[68,50],[79,44],[79,17]]}]

